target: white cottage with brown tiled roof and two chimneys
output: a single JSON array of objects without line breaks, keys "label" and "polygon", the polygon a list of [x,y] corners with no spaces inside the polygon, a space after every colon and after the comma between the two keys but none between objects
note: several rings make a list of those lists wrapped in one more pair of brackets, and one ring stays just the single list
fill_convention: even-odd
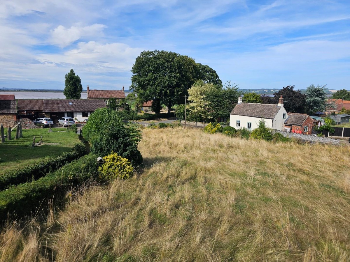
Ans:
[{"label": "white cottage with brown tiled roof and two chimneys", "polygon": [[264,119],[268,128],[284,130],[284,122],[288,117],[283,107],[283,97],[278,104],[243,103],[242,97],[230,114],[230,126],[236,129],[246,128],[253,130],[259,127],[259,121]]}]

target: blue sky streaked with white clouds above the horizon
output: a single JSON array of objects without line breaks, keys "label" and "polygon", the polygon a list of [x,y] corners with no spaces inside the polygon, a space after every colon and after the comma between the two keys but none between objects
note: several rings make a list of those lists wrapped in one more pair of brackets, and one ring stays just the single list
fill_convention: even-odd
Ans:
[{"label": "blue sky streaked with white clouds above the horizon", "polygon": [[0,87],[64,88],[71,68],[126,89],[144,50],[207,64],[240,88],[350,89],[350,2],[2,0]]}]

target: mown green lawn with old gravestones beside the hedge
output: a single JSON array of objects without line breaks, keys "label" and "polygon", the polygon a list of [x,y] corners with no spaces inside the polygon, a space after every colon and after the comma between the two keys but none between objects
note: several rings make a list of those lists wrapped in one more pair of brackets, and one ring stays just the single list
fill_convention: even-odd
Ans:
[{"label": "mown green lawn with old gravestones beside the hedge", "polygon": [[[66,128],[49,129],[23,129],[23,138],[14,139],[16,131],[12,131],[13,140],[0,144],[0,174],[4,174],[16,168],[29,166],[44,158],[52,157],[69,151],[73,145],[79,142],[78,135],[72,131],[66,132]],[[59,132],[64,131],[64,132]],[[31,147],[33,137],[35,142],[43,137],[43,145]],[[58,143],[58,145],[47,145],[48,143]]]}]

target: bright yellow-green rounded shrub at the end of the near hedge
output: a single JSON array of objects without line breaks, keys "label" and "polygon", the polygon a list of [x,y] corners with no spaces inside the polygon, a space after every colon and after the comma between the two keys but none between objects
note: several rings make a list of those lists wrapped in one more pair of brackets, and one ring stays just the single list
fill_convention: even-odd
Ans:
[{"label": "bright yellow-green rounded shrub at the end of the near hedge", "polygon": [[103,160],[105,162],[98,168],[101,180],[128,179],[133,176],[134,168],[131,162],[117,153],[112,152],[103,157]]}]

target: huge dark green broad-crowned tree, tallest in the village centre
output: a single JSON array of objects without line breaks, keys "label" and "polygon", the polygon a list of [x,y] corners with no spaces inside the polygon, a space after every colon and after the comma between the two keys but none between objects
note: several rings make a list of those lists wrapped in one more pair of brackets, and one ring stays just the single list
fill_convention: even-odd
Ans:
[{"label": "huge dark green broad-crowned tree, tallest in the village centre", "polygon": [[156,113],[160,111],[160,104],[166,104],[170,113],[172,105],[184,103],[187,90],[198,79],[222,85],[216,72],[209,66],[168,51],[141,52],[131,72],[131,89],[141,100],[153,100]]}]

